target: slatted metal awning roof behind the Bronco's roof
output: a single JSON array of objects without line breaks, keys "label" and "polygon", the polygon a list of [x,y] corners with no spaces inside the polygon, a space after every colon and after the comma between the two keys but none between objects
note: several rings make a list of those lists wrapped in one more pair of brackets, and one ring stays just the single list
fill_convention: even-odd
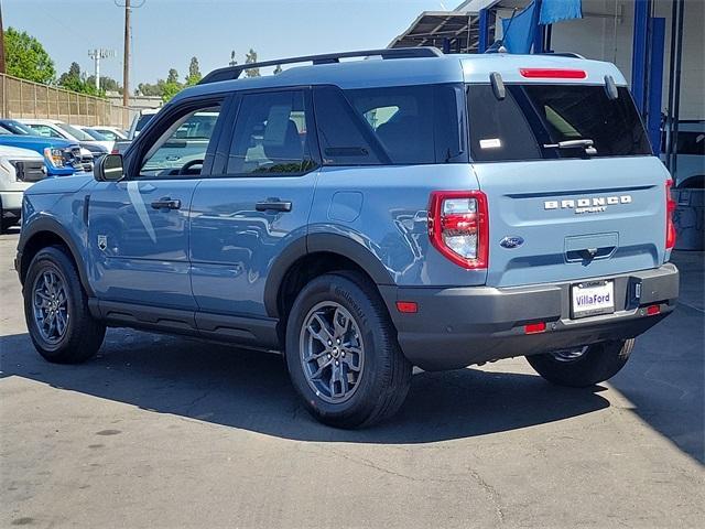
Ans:
[{"label": "slatted metal awning roof behind the Bronco's roof", "polygon": [[452,53],[477,53],[479,15],[459,11],[424,11],[388,47],[436,46]]}]

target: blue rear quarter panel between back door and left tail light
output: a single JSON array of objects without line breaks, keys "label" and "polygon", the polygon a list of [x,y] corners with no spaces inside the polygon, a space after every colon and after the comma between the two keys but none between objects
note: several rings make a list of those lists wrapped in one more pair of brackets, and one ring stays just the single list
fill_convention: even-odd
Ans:
[{"label": "blue rear quarter panel between back door and left tail light", "polygon": [[433,191],[477,190],[468,164],[324,168],[308,234],[345,236],[371,252],[394,284],[474,285],[484,270],[466,270],[430,242],[427,206]]}]

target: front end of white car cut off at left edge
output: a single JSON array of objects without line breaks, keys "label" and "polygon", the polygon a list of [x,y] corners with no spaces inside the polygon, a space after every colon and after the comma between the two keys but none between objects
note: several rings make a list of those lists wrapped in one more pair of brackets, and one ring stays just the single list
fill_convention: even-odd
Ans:
[{"label": "front end of white car cut off at left edge", "polygon": [[0,145],[0,233],[19,224],[24,191],[44,177],[46,168],[40,153]]}]

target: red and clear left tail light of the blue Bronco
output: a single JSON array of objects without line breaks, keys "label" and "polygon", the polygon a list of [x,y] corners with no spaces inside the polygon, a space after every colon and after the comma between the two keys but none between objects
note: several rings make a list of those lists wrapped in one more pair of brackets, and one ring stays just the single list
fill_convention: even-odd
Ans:
[{"label": "red and clear left tail light of the blue Bronco", "polygon": [[436,191],[429,205],[431,244],[467,269],[486,269],[489,218],[481,191]]}]

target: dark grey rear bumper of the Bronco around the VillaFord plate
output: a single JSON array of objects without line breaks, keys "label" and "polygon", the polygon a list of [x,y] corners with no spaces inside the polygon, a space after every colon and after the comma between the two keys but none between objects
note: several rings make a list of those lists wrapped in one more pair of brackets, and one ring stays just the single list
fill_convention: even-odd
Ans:
[{"label": "dark grey rear bumper of the Bronco around the VillaFord plate", "polygon": [[[666,263],[653,270],[592,279],[615,282],[612,314],[572,320],[571,282],[497,289],[381,287],[404,355],[426,370],[455,369],[487,360],[528,356],[609,339],[633,338],[675,309],[679,271]],[[414,301],[415,314],[397,311]],[[660,305],[648,315],[647,305]],[[527,335],[524,325],[545,322],[546,331]]]}]

